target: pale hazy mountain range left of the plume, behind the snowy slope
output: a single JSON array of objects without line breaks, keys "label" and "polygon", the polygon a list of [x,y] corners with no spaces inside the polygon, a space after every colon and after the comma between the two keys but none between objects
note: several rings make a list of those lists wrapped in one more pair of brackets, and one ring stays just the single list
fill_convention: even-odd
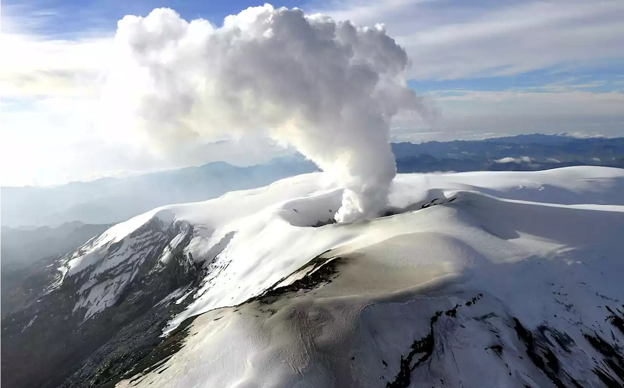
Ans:
[{"label": "pale hazy mountain range left of the plume, behind the snowy slope", "polygon": [[207,200],[314,170],[316,166],[302,157],[284,157],[250,167],[215,162],[58,187],[0,187],[0,225],[117,223],[158,206]]}]

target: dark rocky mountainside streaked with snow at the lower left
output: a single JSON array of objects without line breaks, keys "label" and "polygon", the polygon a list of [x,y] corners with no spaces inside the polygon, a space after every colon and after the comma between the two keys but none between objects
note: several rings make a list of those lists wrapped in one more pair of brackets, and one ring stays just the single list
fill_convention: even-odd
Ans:
[{"label": "dark rocky mountainside streaked with snow at the lower left", "polygon": [[84,271],[48,271],[36,303],[0,321],[3,386],[97,387],[130,369],[185,306],[163,299],[200,278],[202,263],[183,253],[192,231],[152,218]]}]

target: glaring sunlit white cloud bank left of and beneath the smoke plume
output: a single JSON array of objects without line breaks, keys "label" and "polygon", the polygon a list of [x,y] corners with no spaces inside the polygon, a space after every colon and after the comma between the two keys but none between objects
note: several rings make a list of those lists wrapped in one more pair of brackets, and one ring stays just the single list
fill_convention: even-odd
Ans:
[{"label": "glaring sunlit white cloud bank left of and beneath the smoke plume", "polygon": [[0,4],[0,52],[11,54],[0,61],[0,186],[52,185],[217,160],[250,165],[285,153],[259,137],[225,137],[168,155],[152,152],[139,132],[103,125],[100,93],[114,32],[57,39],[39,32],[54,12],[24,11]]}]

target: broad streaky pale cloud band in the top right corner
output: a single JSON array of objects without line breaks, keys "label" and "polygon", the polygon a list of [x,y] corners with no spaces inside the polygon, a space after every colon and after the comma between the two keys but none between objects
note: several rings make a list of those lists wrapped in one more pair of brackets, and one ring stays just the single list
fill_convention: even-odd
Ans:
[{"label": "broad streaky pale cloud band in the top right corner", "polygon": [[412,77],[509,75],[552,66],[624,62],[624,2],[347,1],[319,11],[384,22],[406,47]]}]

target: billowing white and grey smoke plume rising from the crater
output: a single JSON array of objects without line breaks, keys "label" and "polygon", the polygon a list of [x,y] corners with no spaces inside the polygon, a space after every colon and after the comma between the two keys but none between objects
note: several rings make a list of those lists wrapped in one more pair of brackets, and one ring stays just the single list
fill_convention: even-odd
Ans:
[{"label": "billowing white and grey smoke plume rising from the crater", "polygon": [[381,25],[250,7],[223,26],[171,9],[119,21],[112,97],[161,144],[266,131],[344,188],[338,221],[377,216],[396,175],[399,110],[422,112],[406,52]]}]

